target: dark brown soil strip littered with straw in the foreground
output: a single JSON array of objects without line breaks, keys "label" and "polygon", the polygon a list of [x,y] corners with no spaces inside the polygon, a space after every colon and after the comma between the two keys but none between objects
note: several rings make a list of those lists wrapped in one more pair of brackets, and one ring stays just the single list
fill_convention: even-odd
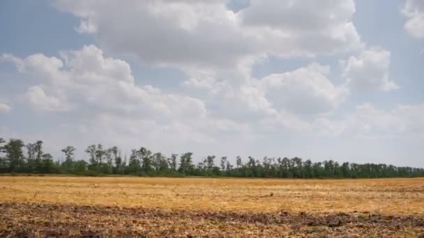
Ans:
[{"label": "dark brown soil strip littered with straw in the foreground", "polygon": [[0,237],[418,237],[424,216],[0,203]]}]

